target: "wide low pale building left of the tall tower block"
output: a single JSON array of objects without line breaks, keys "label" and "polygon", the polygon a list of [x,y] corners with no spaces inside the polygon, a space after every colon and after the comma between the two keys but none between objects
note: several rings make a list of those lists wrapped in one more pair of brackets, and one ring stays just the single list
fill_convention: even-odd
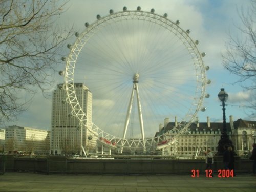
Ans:
[{"label": "wide low pale building left of the tall tower block", "polygon": [[50,148],[50,132],[30,127],[8,126],[5,129],[5,152],[47,154]]}]

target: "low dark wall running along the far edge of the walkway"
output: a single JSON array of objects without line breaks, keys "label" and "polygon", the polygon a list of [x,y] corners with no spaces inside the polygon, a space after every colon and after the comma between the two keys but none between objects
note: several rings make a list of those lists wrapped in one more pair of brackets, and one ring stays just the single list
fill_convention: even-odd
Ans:
[{"label": "low dark wall running along the far edge of the walkway", "polygon": [[[185,159],[169,156],[101,155],[95,159],[73,159],[65,156],[0,156],[0,167],[5,172],[33,172],[45,174],[172,174],[190,175],[191,169],[204,173],[204,159]],[[104,159],[103,157],[111,157]],[[114,158],[114,159],[113,159]],[[173,158],[173,159],[171,159]],[[176,159],[175,159],[176,158]],[[4,165],[4,166],[3,166]],[[215,158],[213,169],[223,169],[222,158]],[[236,172],[250,173],[252,161],[236,160]],[[1,170],[0,170],[1,172]],[[3,172],[3,171],[2,171]],[[4,173],[4,172],[3,172]]]}]

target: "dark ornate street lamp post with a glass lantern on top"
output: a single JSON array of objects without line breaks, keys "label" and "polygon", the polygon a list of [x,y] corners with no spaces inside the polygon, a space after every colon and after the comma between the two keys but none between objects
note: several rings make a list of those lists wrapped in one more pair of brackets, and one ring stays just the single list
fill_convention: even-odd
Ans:
[{"label": "dark ornate street lamp post with a glass lantern on top", "polygon": [[225,114],[225,102],[228,99],[228,94],[225,92],[224,88],[221,88],[221,91],[218,94],[220,101],[222,102],[222,110],[223,110],[223,129],[221,132],[221,139],[218,143],[218,154],[222,155],[224,152],[224,146],[232,146],[232,141],[229,139],[227,134],[227,126],[226,126],[226,114]]}]

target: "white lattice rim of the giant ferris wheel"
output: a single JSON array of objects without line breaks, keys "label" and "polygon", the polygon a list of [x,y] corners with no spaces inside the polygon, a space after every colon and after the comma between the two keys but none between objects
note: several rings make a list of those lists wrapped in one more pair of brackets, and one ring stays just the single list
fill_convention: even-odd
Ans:
[{"label": "white lattice rim of the giant ferris wheel", "polygon": [[[127,17],[127,18],[124,18],[124,17]],[[77,100],[76,93],[74,90],[74,69],[75,69],[75,65],[76,65],[76,59],[78,58],[80,51],[82,50],[84,45],[86,45],[86,42],[91,38],[91,35],[97,33],[97,31],[94,32],[93,30],[94,29],[97,30],[97,26],[100,26],[101,24],[104,24],[104,22],[107,22],[108,20],[111,20],[114,18],[120,18],[121,20],[122,19],[123,20],[135,19],[133,17],[136,17],[136,19],[140,19],[140,17],[143,17],[144,19],[149,19],[148,20],[149,22],[153,22],[153,20],[154,20],[154,23],[156,23],[156,24],[158,24],[158,22],[159,22],[161,25],[165,25],[166,27],[169,26],[170,28],[174,29],[175,32],[178,32],[185,39],[185,40],[184,39],[183,40],[187,43],[186,44],[187,49],[188,49],[188,46],[190,46],[189,50],[191,50],[191,52],[193,52],[194,58],[195,58],[195,59],[193,59],[193,64],[195,65],[197,75],[200,78],[200,80],[198,82],[201,82],[201,84],[197,84],[197,92],[199,92],[200,94],[197,98],[198,99],[197,103],[193,103],[194,105],[197,105],[197,108],[196,108],[195,112],[193,113],[193,115],[191,115],[191,117],[190,117],[190,119],[192,121],[195,118],[197,112],[201,108],[204,94],[205,94],[206,74],[205,74],[204,63],[202,61],[202,55],[197,48],[196,42],[193,41],[189,37],[188,32],[184,31],[181,27],[179,27],[179,25],[177,23],[174,23],[171,20],[169,20],[166,15],[161,16],[154,12],[148,12],[148,11],[142,11],[142,10],[139,10],[139,11],[138,10],[130,10],[130,11],[125,10],[125,11],[119,11],[119,12],[115,12],[115,13],[112,12],[109,15],[106,15],[102,18],[99,16],[98,20],[96,20],[93,24],[88,25],[87,28],[81,34],[79,34],[77,36],[77,40],[75,41],[75,43],[73,45],[70,45],[70,53],[67,58],[66,68],[65,68],[65,89],[66,89],[66,93],[67,93],[68,102],[70,103],[70,105],[72,107],[72,115],[76,116],[79,119],[81,124],[83,124],[84,126],[86,125],[85,122],[87,120],[87,116],[82,111],[80,103]],[[160,25],[160,24],[158,24],[158,25]],[[85,40],[83,38],[85,38]],[[192,54],[191,52],[190,52],[190,54]],[[189,110],[191,110],[191,108]],[[179,123],[180,134],[184,133],[187,130],[188,126],[191,124],[191,121],[188,123],[184,123],[184,124]],[[93,126],[95,127],[96,125],[94,125],[94,123],[93,123],[91,125],[91,127],[93,127]],[[97,127],[94,130],[100,130],[100,129],[99,129],[99,127]],[[91,131],[91,130],[89,130],[89,131]],[[104,131],[101,130],[101,132],[104,132]],[[118,137],[113,136],[108,133],[104,133],[103,135],[108,135],[111,139],[114,139],[115,141],[122,140],[122,138],[118,138]],[[145,139],[145,140],[147,142],[152,142],[152,140],[156,140],[159,138],[160,138],[160,136],[152,137],[150,139]],[[129,142],[129,139],[126,139],[126,140],[127,140],[127,142]],[[132,139],[131,142],[132,141],[140,141],[140,140],[141,139]]]}]

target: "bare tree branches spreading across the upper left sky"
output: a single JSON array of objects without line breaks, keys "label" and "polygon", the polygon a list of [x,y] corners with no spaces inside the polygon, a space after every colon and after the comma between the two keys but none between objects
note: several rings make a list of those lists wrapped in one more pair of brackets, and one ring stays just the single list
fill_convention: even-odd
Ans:
[{"label": "bare tree branches spreading across the upper left sky", "polygon": [[71,30],[56,20],[64,4],[49,0],[0,1],[0,121],[15,119],[38,91],[46,93]]}]

